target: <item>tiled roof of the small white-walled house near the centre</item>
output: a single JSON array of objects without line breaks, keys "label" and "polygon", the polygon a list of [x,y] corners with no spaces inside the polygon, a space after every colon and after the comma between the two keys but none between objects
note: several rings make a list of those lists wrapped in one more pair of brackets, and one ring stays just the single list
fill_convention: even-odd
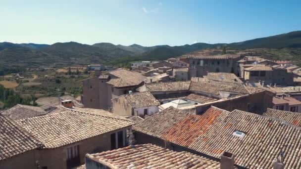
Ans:
[{"label": "tiled roof of the small white-walled house near the centre", "polygon": [[124,94],[112,100],[118,100],[123,97],[127,103],[133,108],[158,106],[160,103],[156,100],[149,91]]}]

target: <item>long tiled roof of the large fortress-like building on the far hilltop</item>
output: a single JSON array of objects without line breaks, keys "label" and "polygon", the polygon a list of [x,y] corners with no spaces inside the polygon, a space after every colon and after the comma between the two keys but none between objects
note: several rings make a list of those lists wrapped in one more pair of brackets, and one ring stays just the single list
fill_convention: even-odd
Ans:
[{"label": "long tiled roof of the large fortress-like building on the far hilltop", "polygon": [[194,59],[234,59],[240,55],[237,54],[223,54],[223,55],[202,55],[198,52],[182,55],[181,58],[194,58]]}]

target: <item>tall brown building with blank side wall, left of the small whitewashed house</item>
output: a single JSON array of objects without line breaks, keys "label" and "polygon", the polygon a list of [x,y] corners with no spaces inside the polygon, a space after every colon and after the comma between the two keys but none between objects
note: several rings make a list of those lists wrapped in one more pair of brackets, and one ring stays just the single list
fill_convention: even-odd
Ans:
[{"label": "tall brown building with blank side wall, left of the small whitewashed house", "polygon": [[83,104],[87,108],[111,107],[111,99],[143,85],[146,77],[138,72],[116,70],[83,81]]}]

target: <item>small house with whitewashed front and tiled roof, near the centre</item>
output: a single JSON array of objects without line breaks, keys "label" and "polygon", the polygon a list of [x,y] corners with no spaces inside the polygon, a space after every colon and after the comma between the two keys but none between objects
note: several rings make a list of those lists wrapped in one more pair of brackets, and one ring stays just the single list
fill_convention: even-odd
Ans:
[{"label": "small house with whitewashed front and tiled roof, near the centre", "polygon": [[160,103],[149,91],[124,94],[112,99],[112,112],[120,116],[148,117],[159,111]]}]

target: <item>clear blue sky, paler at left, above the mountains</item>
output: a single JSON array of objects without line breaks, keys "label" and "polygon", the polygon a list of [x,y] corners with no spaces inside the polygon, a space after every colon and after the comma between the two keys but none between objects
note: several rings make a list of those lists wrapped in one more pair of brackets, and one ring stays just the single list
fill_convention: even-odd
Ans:
[{"label": "clear blue sky, paler at left, above the mountains", "polygon": [[301,0],[1,0],[0,42],[151,46],[301,30]]}]

